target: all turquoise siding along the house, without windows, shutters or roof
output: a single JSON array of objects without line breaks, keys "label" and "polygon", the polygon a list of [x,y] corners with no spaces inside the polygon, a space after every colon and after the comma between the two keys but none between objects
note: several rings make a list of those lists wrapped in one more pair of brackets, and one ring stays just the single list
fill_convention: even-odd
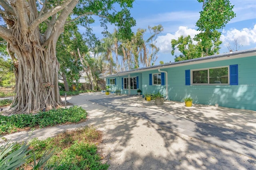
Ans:
[{"label": "all turquoise siding along the house, without windows, shutters or roof", "polygon": [[[238,65],[238,85],[185,85],[185,70],[236,64]],[[256,111],[256,56],[234,59],[230,57],[230,59],[221,59],[220,61],[210,61],[209,59],[205,63],[177,64],[160,70],[168,72],[165,85],[149,85],[149,74],[160,73],[157,68],[151,71],[142,70],[141,73],[130,74],[130,77],[139,77],[139,89],[142,90],[142,94],[158,93],[159,91],[165,96],[168,94],[168,100],[183,101],[185,97],[190,96],[194,99],[193,103],[206,105],[218,103],[223,107]],[[128,75],[115,77],[116,85],[112,86],[114,90],[122,89],[122,78],[125,77]],[[192,79],[192,77],[190,78]],[[166,85],[168,91],[166,91]],[[122,94],[128,95],[128,90],[122,89]],[[131,89],[130,94],[135,95],[137,91]]]}]

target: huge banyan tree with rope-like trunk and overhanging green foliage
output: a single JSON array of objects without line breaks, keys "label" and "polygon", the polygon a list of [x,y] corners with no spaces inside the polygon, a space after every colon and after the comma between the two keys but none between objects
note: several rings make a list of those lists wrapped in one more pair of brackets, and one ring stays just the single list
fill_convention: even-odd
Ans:
[{"label": "huge banyan tree with rope-like trunk and overhanging green foliage", "polygon": [[[88,27],[95,17],[131,35],[135,21],[127,8],[134,0],[0,0],[0,37],[13,61],[16,89],[10,113],[34,113],[62,105],[56,42],[65,25]],[[120,11],[114,6],[120,5]]]}]

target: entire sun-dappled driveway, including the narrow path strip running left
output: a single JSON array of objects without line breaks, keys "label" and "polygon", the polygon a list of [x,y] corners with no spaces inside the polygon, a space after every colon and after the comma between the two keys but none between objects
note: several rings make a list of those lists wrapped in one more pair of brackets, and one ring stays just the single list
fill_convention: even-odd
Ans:
[{"label": "entire sun-dappled driveway, including the narrow path strip running left", "polygon": [[46,138],[94,125],[103,132],[98,148],[109,170],[256,169],[255,111],[206,105],[186,108],[173,101],[158,106],[139,96],[104,93],[67,100],[86,109],[86,122],[3,137],[12,141]]}]

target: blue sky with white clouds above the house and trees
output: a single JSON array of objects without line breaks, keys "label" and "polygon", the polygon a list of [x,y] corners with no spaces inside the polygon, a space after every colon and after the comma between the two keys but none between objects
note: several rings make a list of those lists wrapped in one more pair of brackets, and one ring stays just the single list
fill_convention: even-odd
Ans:
[{"label": "blue sky with white clouds above the house and trees", "polygon": [[[222,32],[220,53],[229,51],[228,43],[235,47],[234,40],[237,40],[239,50],[256,48],[256,0],[230,0],[230,3],[234,5],[236,17],[223,30],[219,30]],[[131,16],[136,20],[132,31],[136,33],[138,28],[148,29],[148,26],[161,24],[164,31],[156,39],[160,50],[155,65],[160,61],[174,62],[171,40],[182,35],[194,38],[198,34],[196,22],[200,18],[201,10],[202,3],[197,0],[135,0],[133,8],[130,9]],[[114,26],[109,25],[108,28],[112,33]],[[99,24],[92,25],[92,29],[98,38],[103,38]],[[148,30],[147,32],[145,38],[150,35]],[[179,52],[176,51],[174,55],[179,55]]]}]

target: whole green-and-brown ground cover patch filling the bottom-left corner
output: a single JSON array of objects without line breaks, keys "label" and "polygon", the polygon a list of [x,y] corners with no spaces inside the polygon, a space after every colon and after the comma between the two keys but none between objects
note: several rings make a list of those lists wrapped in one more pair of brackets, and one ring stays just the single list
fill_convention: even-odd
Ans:
[{"label": "whole green-and-brown ground cover patch filling the bottom-left corner", "polygon": [[[15,147],[23,148],[23,153],[29,152],[26,154],[26,161],[23,160],[22,164],[19,164],[19,169],[107,170],[109,165],[103,164],[100,161],[102,157],[97,153],[97,145],[100,142],[102,132],[92,126],[67,130],[45,140],[34,138],[26,146],[18,144]],[[12,150],[12,153],[15,151]],[[12,156],[10,161],[16,160],[16,163],[19,163],[19,154],[12,153],[6,157]],[[0,164],[0,169],[2,168]]]}]

